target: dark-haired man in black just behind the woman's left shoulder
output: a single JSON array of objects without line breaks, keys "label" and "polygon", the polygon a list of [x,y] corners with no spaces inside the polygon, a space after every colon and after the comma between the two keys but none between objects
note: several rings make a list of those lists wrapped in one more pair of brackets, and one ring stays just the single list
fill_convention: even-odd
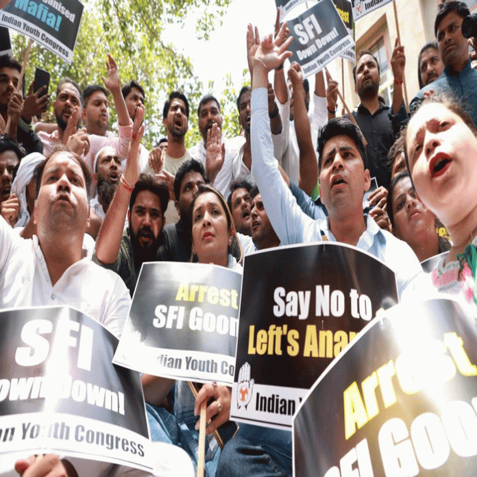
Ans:
[{"label": "dark-haired man in black just behind the woman's left shoulder", "polygon": [[192,255],[191,204],[199,184],[206,184],[206,173],[201,162],[187,160],[175,174],[175,207],[180,220],[164,227],[164,243],[159,247],[158,260],[189,262]]}]

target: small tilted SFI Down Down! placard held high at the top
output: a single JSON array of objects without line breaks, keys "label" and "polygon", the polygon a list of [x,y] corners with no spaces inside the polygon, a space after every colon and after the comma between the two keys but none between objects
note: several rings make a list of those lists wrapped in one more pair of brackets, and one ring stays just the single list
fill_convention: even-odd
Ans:
[{"label": "small tilted SFI Down Down! placard held high at the top", "polygon": [[354,47],[354,40],[332,0],[321,0],[290,20],[288,27],[293,36],[290,61],[297,61],[302,66],[305,77],[317,73]]}]

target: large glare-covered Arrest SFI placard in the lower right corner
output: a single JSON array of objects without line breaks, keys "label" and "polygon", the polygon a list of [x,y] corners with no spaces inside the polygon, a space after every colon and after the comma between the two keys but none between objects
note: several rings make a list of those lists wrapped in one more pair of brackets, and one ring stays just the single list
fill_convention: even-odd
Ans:
[{"label": "large glare-covered Arrest SFI placard in the lower right corner", "polygon": [[467,311],[437,298],[370,323],[297,411],[294,475],[476,475],[477,326]]}]

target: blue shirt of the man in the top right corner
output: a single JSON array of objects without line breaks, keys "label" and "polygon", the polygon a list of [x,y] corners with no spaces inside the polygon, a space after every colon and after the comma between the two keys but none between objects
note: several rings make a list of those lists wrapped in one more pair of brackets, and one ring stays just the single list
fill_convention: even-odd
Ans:
[{"label": "blue shirt of the man in the top right corner", "polygon": [[477,71],[467,61],[462,71],[455,71],[452,66],[445,66],[442,74],[432,83],[424,86],[409,104],[411,113],[424,99],[424,92],[434,90],[446,91],[460,98],[465,103],[465,110],[477,126]]}]

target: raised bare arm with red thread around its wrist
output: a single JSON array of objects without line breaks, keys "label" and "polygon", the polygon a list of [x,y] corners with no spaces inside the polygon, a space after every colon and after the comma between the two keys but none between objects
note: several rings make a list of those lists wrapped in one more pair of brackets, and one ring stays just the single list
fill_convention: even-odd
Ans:
[{"label": "raised bare arm with red thread around its wrist", "polygon": [[95,255],[99,262],[104,264],[112,264],[118,258],[132,188],[140,175],[139,144],[144,134],[144,125],[141,126],[143,117],[144,106],[139,106],[132,127],[132,141],[127,153],[126,167],[96,241]]}]

